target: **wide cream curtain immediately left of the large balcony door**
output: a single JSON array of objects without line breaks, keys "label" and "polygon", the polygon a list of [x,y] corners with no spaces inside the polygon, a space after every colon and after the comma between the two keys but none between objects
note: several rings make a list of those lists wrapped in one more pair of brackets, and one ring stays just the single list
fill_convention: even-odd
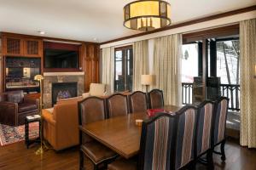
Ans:
[{"label": "wide cream curtain immediately left of the large balcony door", "polygon": [[165,105],[181,105],[182,35],[154,38],[154,88],[163,90]]}]

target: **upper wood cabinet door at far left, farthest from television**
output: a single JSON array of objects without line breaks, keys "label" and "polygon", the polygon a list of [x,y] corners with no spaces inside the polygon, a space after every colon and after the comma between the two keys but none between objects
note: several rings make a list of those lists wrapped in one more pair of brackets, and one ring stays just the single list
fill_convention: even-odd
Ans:
[{"label": "upper wood cabinet door at far left, farthest from television", "polygon": [[3,37],[3,55],[21,56],[23,42],[19,37]]}]

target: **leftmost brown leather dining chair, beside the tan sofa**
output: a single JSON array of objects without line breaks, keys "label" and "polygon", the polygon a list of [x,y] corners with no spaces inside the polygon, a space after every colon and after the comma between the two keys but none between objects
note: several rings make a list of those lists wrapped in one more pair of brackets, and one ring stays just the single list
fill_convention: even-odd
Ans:
[{"label": "leftmost brown leather dining chair, beside the tan sofa", "polygon": [[100,164],[106,164],[117,157],[117,154],[83,132],[83,127],[91,122],[106,118],[105,100],[89,97],[79,102],[79,168],[84,169],[84,156],[88,157],[98,169]]}]

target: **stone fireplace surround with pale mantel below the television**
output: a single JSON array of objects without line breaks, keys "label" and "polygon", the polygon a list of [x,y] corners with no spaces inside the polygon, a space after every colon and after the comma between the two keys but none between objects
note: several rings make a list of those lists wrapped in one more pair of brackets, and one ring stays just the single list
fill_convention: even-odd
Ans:
[{"label": "stone fireplace surround with pale mantel below the television", "polygon": [[44,72],[44,108],[52,107],[53,82],[78,82],[78,96],[84,93],[84,72]]}]

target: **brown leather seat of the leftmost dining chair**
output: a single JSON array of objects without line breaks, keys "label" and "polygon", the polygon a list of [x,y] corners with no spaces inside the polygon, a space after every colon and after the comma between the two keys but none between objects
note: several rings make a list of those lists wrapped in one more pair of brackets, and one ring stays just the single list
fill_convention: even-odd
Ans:
[{"label": "brown leather seat of the leftmost dining chair", "polygon": [[106,146],[96,142],[95,140],[82,144],[81,150],[86,156],[89,156],[90,160],[94,161],[95,164],[117,156],[113,150],[108,149]]}]

